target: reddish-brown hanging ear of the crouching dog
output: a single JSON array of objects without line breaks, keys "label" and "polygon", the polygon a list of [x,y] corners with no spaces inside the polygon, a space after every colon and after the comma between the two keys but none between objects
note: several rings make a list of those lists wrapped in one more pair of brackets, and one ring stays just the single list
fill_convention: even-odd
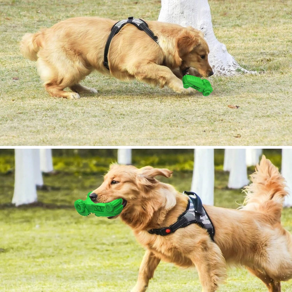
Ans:
[{"label": "reddish-brown hanging ear of the crouching dog", "polygon": [[195,46],[198,46],[200,39],[199,33],[184,29],[176,38],[176,48],[180,58],[190,53]]}]

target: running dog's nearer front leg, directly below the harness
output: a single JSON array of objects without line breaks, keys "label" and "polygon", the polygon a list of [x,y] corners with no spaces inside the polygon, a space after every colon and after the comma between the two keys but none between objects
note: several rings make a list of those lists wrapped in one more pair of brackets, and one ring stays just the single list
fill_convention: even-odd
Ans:
[{"label": "running dog's nearer front leg, directly below the harness", "polygon": [[226,277],[226,262],[222,251],[210,239],[202,239],[190,259],[196,266],[202,285],[202,292],[214,292]]}]

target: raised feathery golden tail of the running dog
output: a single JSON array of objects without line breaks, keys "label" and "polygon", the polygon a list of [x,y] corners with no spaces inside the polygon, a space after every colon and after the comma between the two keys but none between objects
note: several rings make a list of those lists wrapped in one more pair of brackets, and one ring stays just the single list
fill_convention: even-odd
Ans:
[{"label": "raised feathery golden tail of the running dog", "polygon": [[269,159],[263,155],[256,172],[251,175],[252,183],[245,187],[244,210],[263,211],[271,221],[280,221],[285,196],[285,179]]}]

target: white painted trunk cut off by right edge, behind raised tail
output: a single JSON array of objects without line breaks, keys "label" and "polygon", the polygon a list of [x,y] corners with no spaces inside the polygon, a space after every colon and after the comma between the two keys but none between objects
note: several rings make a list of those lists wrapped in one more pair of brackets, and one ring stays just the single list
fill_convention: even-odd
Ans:
[{"label": "white painted trunk cut off by right edge, behind raised tail", "polygon": [[286,179],[289,196],[285,198],[284,206],[292,207],[292,149],[282,149],[282,175]]}]

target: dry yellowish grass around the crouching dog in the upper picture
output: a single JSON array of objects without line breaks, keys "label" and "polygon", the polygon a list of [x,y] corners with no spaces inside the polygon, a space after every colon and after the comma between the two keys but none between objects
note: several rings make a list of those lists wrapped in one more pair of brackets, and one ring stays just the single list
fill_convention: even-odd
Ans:
[{"label": "dry yellowish grass around the crouching dog in the upper picture", "polygon": [[72,101],[46,93],[35,63],[20,55],[22,35],[75,16],[157,20],[160,1],[2,0],[1,145],[291,145],[292,1],[209,4],[218,40],[260,74],[212,76],[204,97],[93,73],[83,84],[99,95]]}]

